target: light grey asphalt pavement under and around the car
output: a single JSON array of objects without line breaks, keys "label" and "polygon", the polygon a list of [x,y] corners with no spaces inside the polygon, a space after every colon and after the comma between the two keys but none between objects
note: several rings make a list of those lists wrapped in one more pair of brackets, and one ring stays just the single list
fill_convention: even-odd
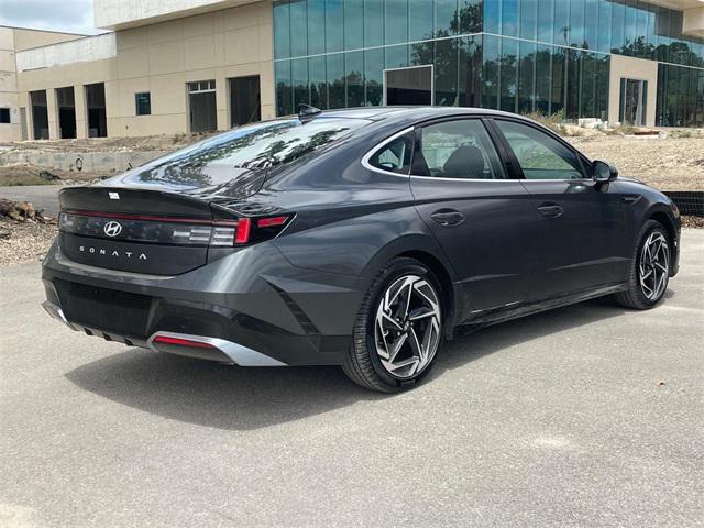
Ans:
[{"label": "light grey asphalt pavement under and around the car", "polygon": [[0,268],[0,526],[703,526],[704,230],[682,245],[657,309],[485,329],[392,397],[88,338],[38,264]]}]

